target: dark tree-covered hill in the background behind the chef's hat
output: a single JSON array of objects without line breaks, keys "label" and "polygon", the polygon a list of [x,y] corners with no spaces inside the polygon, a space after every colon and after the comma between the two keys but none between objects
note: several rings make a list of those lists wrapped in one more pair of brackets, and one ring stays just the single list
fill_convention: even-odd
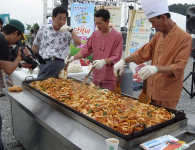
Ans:
[{"label": "dark tree-covered hill in the background behind the chef's hat", "polygon": [[184,5],[183,4],[173,4],[169,6],[169,11],[186,16],[186,11],[189,6],[195,6],[195,4],[191,4],[191,5],[187,3],[185,3]]}]

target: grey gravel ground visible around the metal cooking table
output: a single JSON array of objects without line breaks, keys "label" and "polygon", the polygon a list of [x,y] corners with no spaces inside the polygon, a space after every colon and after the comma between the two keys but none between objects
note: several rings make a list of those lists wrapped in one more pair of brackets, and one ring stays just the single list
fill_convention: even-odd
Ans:
[{"label": "grey gravel ground visible around the metal cooking table", "polygon": [[[193,59],[189,58],[188,64],[185,69],[185,77],[192,71]],[[189,91],[191,89],[191,76],[184,83]],[[139,97],[142,89],[133,92],[133,97]],[[179,100],[177,110],[184,110],[186,113],[195,115],[195,97],[190,99],[190,96],[183,90]],[[11,125],[11,110],[10,100],[7,97],[0,98],[0,114],[3,119],[2,139],[5,150],[24,150],[20,143],[14,138]]]}]

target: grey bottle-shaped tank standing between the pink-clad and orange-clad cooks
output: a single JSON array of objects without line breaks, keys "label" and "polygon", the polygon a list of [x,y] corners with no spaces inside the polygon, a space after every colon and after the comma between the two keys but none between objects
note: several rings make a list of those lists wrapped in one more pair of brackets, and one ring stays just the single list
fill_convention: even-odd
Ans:
[{"label": "grey bottle-shaped tank standing between the pink-clad and orange-clad cooks", "polygon": [[133,71],[129,68],[129,63],[125,65],[124,73],[121,75],[121,92],[132,96],[133,94]]}]

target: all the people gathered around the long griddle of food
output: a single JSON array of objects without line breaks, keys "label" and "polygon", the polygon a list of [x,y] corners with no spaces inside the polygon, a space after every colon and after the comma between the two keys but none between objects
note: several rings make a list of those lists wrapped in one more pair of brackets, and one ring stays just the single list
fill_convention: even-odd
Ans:
[{"label": "all the people gathered around the long griddle of food", "polygon": [[[138,73],[142,80],[147,80],[147,94],[153,103],[175,109],[183,87],[184,68],[192,50],[192,38],[172,21],[167,0],[141,0],[141,6],[152,27],[158,32],[147,44],[125,58],[121,58],[122,35],[109,25],[110,13],[106,9],[95,12],[97,30],[92,33],[79,53],[68,57],[70,44],[81,45],[81,40],[73,28],[66,24],[67,10],[61,6],[54,8],[52,25],[40,27],[36,35],[34,31],[31,31],[31,48],[46,62],[40,64],[38,78],[58,77],[67,63],[92,54],[94,68],[92,82],[102,88],[114,90],[118,72],[121,75],[125,63],[141,64],[151,60],[151,65],[144,66]],[[10,48],[24,39],[23,23],[11,19],[7,25],[3,26],[0,20],[0,27],[2,89],[5,87],[2,83],[5,78],[2,73],[11,75],[18,66],[31,68],[31,64],[20,63],[21,50],[17,52],[15,60],[10,59]],[[23,51],[25,55],[28,55],[27,48]],[[2,124],[1,118],[0,124]],[[3,149],[1,139],[0,149]]]}]

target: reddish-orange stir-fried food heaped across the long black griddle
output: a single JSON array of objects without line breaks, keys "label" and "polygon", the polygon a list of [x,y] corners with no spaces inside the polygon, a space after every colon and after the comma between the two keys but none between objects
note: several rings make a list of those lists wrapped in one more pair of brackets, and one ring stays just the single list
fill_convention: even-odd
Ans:
[{"label": "reddish-orange stir-fried food heaped across the long black griddle", "polygon": [[[49,78],[33,81],[30,86],[124,135],[131,134],[135,125],[144,123],[151,127],[175,116],[164,107],[143,104],[73,79]],[[143,125],[138,126],[135,131],[143,128]]]}]

